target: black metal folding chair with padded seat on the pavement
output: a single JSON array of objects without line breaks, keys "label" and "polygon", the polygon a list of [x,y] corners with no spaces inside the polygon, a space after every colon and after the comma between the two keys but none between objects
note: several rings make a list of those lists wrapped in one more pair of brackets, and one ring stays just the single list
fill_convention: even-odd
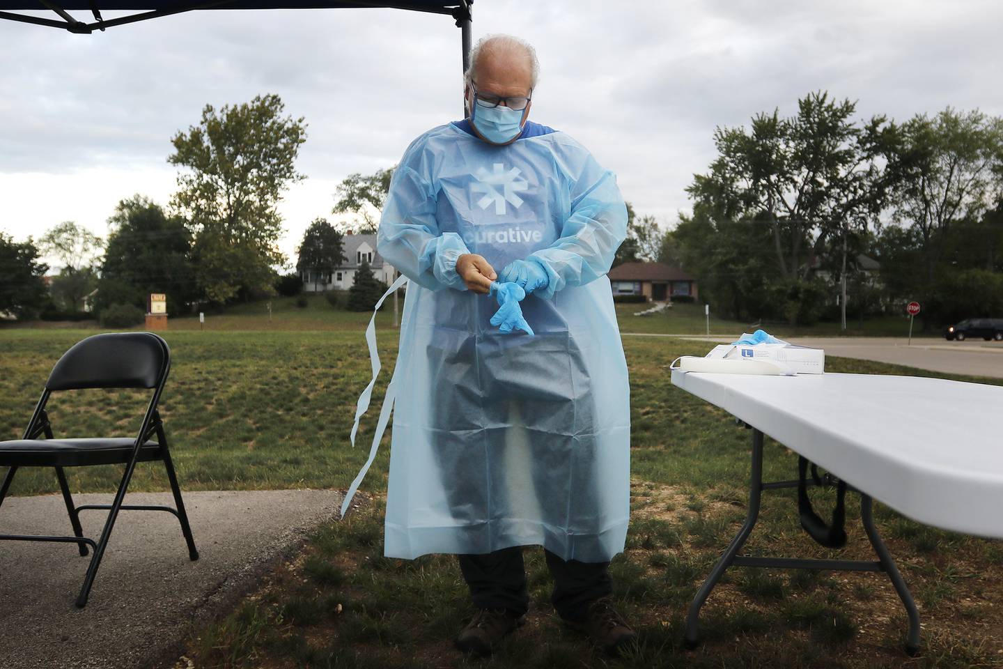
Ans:
[{"label": "black metal folding chair with padded seat on the pavement", "polygon": [[[59,487],[62,488],[63,500],[69,513],[69,522],[73,527],[72,537],[45,537],[38,535],[0,535],[0,540],[24,542],[62,542],[76,544],[81,556],[87,555],[87,547],[94,554],[87,568],[87,576],[83,587],[76,598],[76,606],[83,608],[87,604],[94,576],[104,555],[104,549],[111,535],[115,518],[120,510],[135,511],[165,511],[174,514],[182,524],[185,541],[188,542],[189,557],[199,559],[192,538],[192,528],[189,526],[185,504],[182,501],[182,491],[178,487],[178,477],[171,462],[168,451],[168,439],[163,433],[163,423],[156,410],[156,403],[163,392],[163,382],[171,371],[171,349],[163,339],[151,332],[122,332],[99,334],[87,337],[77,342],[66,351],[45,382],[45,390],[35,406],[35,412],[24,430],[24,437],[14,441],[0,441],[0,466],[10,467],[3,484],[0,485],[0,505],[3,504],[14,473],[23,466],[55,467]],[[136,438],[130,437],[98,437],[56,439],[52,435],[52,425],[45,412],[49,395],[61,390],[78,390],[83,388],[152,388],[153,396],[146,407],[142,425]],[[151,440],[155,434],[156,440]],[[44,435],[45,438],[39,438]],[[175,493],[175,506],[149,507],[123,505],[125,488],[135,469],[136,462],[163,460],[171,480],[171,489]],[[66,475],[63,467],[84,466],[89,464],[125,464],[118,491],[110,505],[73,506]],[[104,523],[100,540],[83,536],[77,512],[87,509],[107,509],[108,518]]]}]

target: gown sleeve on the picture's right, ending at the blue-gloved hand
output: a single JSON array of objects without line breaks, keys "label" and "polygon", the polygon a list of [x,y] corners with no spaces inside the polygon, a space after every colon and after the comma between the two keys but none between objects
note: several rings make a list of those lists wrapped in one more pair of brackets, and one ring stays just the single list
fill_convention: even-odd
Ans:
[{"label": "gown sleeve on the picture's right, ending at the blue-gloved hand", "polygon": [[570,144],[557,162],[571,180],[571,216],[561,237],[529,258],[544,267],[550,280],[546,289],[534,292],[543,298],[605,276],[627,237],[627,206],[616,175],[600,166],[581,144]]}]

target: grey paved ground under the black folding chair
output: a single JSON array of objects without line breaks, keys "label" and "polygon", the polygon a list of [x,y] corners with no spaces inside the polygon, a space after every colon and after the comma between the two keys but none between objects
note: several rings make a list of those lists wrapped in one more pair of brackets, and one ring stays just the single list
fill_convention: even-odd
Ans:
[{"label": "grey paved ground under the black folding chair", "polygon": [[[337,490],[183,492],[200,559],[191,562],[165,512],[118,515],[90,600],[76,599],[90,557],[75,544],[0,542],[0,666],[4,669],[170,667],[188,632],[229,613],[273,561],[339,517]],[[77,506],[112,495],[76,494]],[[170,492],[130,492],[125,504],[174,506]],[[100,536],[104,511],[80,514]],[[71,535],[62,496],[8,497],[0,534]]]}]

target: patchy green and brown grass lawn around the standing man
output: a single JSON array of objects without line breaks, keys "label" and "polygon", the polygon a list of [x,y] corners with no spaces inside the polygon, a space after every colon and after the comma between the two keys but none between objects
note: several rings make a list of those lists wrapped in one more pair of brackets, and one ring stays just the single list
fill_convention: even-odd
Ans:
[{"label": "patchy green and brown grass lawn around the standing man", "polygon": [[[315,308],[320,304],[299,311]],[[197,321],[188,331],[172,322],[165,338],[174,367],[161,413],[184,489],[347,487],[375,424],[371,409],[360,446],[352,450],[355,400],[369,373],[360,331],[366,319],[321,313],[329,316],[320,325],[325,330],[307,327],[305,316],[301,331],[265,331],[260,315],[250,314],[245,322],[258,326],[250,332],[237,330],[239,321],[232,329],[205,332]],[[626,323],[623,329],[630,330]],[[0,438],[20,437],[54,361],[92,332],[0,330]],[[627,551],[611,571],[618,606],[640,634],[627,657],[605,658],[562,626],[550,609],[540,549],[527,550],[528,625],[490,660],[460,657],[451,639],[470,609],[455,560],[382,557],[387,447],[358,509],[319,528],[301,555],[269,573],[231,615],[193,631],[188,657],[200,668],[1003,666],[1003,542],[928,528],[881,504],[875,507],[879,531],[923,617],[921,657],[907,658],[901,650],[905,611],[884,575],[787,570],[729,570],[702,612],[705,643],[683,650],[686,606],[744,518],[749,433],[669,382],[671,360],[702,354],[706,345],[661,338],[626,338],[624,345],[631,373],[633,512]],[[379,348],[390,367],[396,333],[389,327],[380,331]],[[826,366],[925,374],[840,358]],[[387,376],[374,392],[376,407]],[[50,416],[57,435],[106,432],[108,424],[131,435],[143,399],[131,391],[57,395]],[[168,489],[157,464],[140,463],[130,489]],[[795,466],[791,452],[767,439],[767,480],[792,477]],[[74,491],[111,492],[120,471],[105,466],[67,473]],[[11,492],[57,489],[51,471],[23,469]],[[831,493],[816,492],[822,509],[830,508]],[[848,495],[849,546],[828,551],[800,530],[793,490],[766,491],[747,552],[873,559],[858,518],[858,499]],[[198,542],[199,529],[194,531]]]}]

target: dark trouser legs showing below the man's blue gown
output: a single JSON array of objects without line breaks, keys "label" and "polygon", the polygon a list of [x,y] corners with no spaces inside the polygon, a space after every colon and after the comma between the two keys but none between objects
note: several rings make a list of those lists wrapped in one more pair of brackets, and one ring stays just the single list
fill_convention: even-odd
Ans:
[{"label": "dark trouser legs showing below the man's blue gown", "polygon": [[[610,563],[565,561],[546,549],[544,553],[547,567],[554,577],[551,602],[558,615],[565,620],[582,620],[589,603],[613,592]],[[473,606],[478,609],[508,609],[520,616],[529,610],[523,547],[457,557]]]}]

